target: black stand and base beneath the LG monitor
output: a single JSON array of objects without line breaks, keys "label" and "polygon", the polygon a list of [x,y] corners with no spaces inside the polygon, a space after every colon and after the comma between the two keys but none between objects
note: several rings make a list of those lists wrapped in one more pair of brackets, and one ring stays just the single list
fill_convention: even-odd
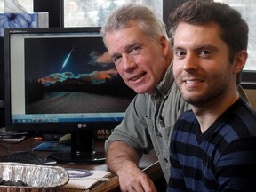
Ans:
[{"label": "black stand and base beneath the LG monitor", "polygon": [[105,153],[94,149],[94,131],[76,129],[71,132],[71,151],[54,152],[50,158],[64,164],[98,164]]}]

